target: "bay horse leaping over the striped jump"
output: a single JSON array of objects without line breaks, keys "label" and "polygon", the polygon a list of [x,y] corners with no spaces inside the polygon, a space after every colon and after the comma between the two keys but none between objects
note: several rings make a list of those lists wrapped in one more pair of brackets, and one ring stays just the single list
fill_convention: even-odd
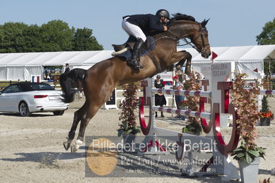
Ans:
[{"label": "bay horse leaping over the striped jump", "polygon": [[[115,87],[126,83],[137,82],[150,76],[154,76],[167,67],[178,63],[185,66],[185,73],[189,74],[191,69],[191,54],[189,52],[176,51],[177,42],[188,38],[194,44],[194,48],[201,56],[208,58],[211,54],[208,42],[208,33],[205,28],[207,21],[198,23],[193,19],[186,19],[184,14],[176,14],[169,22],[169,28],[165,32],[153,35],[155,46],[149,54],[141,56],[140,62],[143,69],[133,69],[127,64],[125,58],[114,56],[96,63],[87,70],[83,78],[83,90],[85,103],[74,112],[72,128],[68,134],[68,140],[63,143],[68,150],[74,139],[75,131],[81,121],[79,136],[72,144],[71,151],[75,152],[83,143],[85,129],[99,108],[110,98]],[[65,79],[61,77],[61,81]],[[61,82],[62,83],[62,82]],[[61,85],[65,101],[72,101],[72,94],[67,87],[68,83]]]}]

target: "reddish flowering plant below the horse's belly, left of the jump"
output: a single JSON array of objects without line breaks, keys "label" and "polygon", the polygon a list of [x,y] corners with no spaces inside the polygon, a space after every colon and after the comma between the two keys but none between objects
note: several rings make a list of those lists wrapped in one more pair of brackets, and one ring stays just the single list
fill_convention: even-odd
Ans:
[{"label": "reddish flowering plant below the horse's belly, left of the jump", "polygon": [[141,132],[140,127],[136,127],[136,116],[135,112],[139,106],[139,100],[137,96],[138,85],[129,83],[123,85],[123,97],[125,100],[120,104],[122,111],[119,116],[121,124],[119,124],[118,136],[121,135],[125,138],[126,142],[132,142],[136,133]]}]

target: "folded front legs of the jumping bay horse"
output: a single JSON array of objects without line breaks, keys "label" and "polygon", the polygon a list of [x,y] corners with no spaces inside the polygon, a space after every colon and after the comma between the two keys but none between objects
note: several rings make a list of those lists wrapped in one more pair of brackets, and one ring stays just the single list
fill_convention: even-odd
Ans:
[{"label": "folded front legs of the jumping bay horse", "polygon": [[172,60],[174,61],[174,63],[179,61],[176,64],[176,66],[181,65],[181,67],[183,67],[183,64],[186,61],[185,74],[187,74],[188,76],[190,76],[190,72],[191,72],[191,59],[192,59],[192,55],[189,52],[186,52],[185,50],[181,52],[175,52],[172,55]]}]

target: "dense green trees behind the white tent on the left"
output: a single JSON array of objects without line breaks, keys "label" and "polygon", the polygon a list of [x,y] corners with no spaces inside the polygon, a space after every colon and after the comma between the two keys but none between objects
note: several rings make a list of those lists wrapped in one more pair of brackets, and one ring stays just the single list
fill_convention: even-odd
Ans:
[{"label": "dense green trees behind the white tent on the left", "polygon": [[53,20],[38,25],[4,23],[0,25],[0,53],[103,50],[88,28],[70,28]]}]

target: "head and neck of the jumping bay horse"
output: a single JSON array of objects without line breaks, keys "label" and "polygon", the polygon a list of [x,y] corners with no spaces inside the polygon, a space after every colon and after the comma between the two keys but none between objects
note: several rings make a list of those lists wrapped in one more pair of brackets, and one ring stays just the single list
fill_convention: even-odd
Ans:
[{"label": "head and neck of the jumping bay horse", "polygon": [[192,47],[198,50],[203,58],[208,58],[211,55],[208,32],[205,27],[208,21],[209,19],[198,23],[193,17],[178,13],[170,21],[168,32],[174,34],[177,39],[183,39],[187,44],[191,45],[185,38],[190,39],[194,44]]}]

